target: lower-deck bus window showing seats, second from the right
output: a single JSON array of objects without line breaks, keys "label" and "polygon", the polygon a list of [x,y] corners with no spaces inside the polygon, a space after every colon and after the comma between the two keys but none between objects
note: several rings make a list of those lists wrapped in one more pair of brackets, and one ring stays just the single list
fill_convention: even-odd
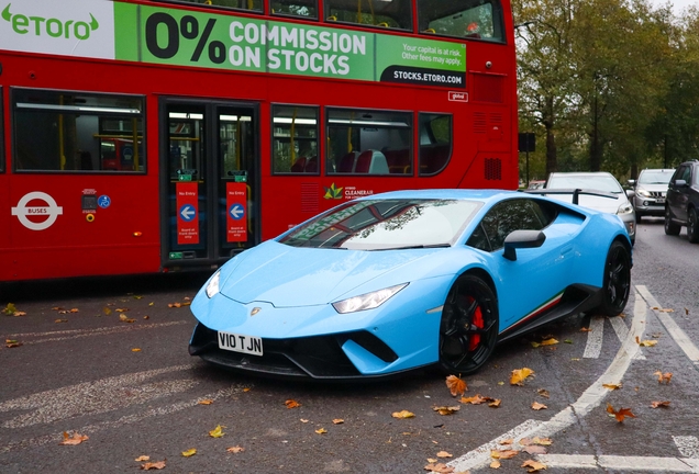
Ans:
[{"label": "lower-deck bus window showing seats, second from the right", "polygon": [[328,173],[412,174],[409,112],[328,110]]}]

